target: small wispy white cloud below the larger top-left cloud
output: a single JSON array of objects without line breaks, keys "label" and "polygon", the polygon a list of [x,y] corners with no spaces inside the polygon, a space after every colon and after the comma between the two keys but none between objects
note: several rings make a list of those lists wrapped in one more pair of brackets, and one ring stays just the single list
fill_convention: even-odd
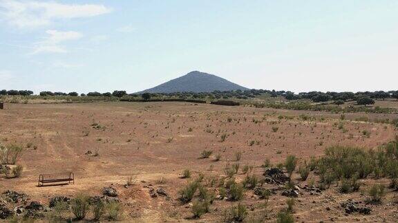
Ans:
[{"label": "small wispy white cloud below the larger top-left cloud", "polygon": [[83,34],[75,31],[61,32],[57,30],[47,30],[46,33],[49,35],[44,39],[35,43],[33,52],[31,54],[40,53],[66,53],[66,47],[61,45],[64,41],[73,41],[81,39]]}]

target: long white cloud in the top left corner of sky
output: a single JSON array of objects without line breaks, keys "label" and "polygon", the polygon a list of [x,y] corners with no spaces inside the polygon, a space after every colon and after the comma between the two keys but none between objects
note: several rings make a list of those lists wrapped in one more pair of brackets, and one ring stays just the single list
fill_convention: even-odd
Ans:
[{"label": "long white cloud in the top left corner of sky", "polygon": [[0,0],[0,18],[18,28],[35,28],[61,19],[95,17],[108,12],[111,8],[95,4]]}]

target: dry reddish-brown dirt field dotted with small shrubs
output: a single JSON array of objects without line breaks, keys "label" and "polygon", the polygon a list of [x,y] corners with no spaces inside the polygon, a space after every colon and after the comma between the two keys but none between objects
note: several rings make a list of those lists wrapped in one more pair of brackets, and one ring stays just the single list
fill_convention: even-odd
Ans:
[{"label": "dry reddish-brown dirt field dotted with small shrubs", "polygon": [[[0,110],[0,140],[25,147],[31,142],[32,146],[21,159],[21,178],[0,178],[0,189],[20,191],[47,204],[53,195],[73,196],[81,191],[100,195],[103,187],[112,185],[120,193],[124,221],[183,222],[192,216],[189,204],[178,200],[178,189],[188,181],[180,178],[184,169],[190,169],[193,177],[224,175],[226,164],[234,163],[234,154],[241,151],[240,167],[253,165],[253,173],[260,177],[265,158],[272,164],[283,162],[289,154],[303,160],[321,156],[331,145],[372,149],[397,134],[392,125],[355,121],[363,116],[397,118],[397,114],[345,114],[341,128],[341,115],[327,112],[192,103],[11,104]],[[363,130],[370,135],[365,136]],[[212,150],[213,156],[220,153],[221,160],[200,159],[205,149]],[[86,155],[88,151],[97,151],[99,156]],[[75,184],[37,187],[40,173],[64,171],[75,173]],[[129,176],[136,183],[124,188]],[[244,177],[238,174],[237,180]],[[300,186],[307,184],[298,174],[294,179]],[[388,184],[388,180],[379,182]],[[149,187],[164,188],[171,200],[151,198]],[[388,193],[383,205],[374,206],[370,215],[345,215],[340,203],[348,198],[363,201],[366,192],[341,194],[335,186],[320,195],[303,191],[296,199],[294,217],[297,222],[395,222],[395,193]],[[271,196],[266,209],[269,221],[285,207],[286,199],[281,193]],[[262,202],[252,191],[245,193],[242,203],[249,207],[248,217],[260,214]],[[210,213],[198,221],[220,222],[225,209],[237,203],[215,200]]]}]

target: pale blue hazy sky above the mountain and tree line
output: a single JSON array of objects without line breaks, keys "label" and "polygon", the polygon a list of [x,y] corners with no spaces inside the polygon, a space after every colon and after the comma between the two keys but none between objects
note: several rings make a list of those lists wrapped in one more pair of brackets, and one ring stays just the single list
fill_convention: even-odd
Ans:
[{"label": "pale blue hazy sky above the mountain and tree line", "polygon": [[398,89],[398,1],[0,0],[0,89]]}]

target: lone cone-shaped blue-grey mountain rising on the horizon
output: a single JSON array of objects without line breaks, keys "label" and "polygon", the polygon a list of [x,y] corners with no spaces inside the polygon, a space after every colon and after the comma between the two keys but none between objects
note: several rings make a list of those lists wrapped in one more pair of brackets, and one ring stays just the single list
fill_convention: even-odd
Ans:
[{"label": "lone cone-shaped blue-grey mountain rising on the horizon", "polygon": [[247,90],[248,88],[242,87],[213,74],[193,71],[184,76],[180,76],[179,78],[167,81],[166,83],[162,83],[161,85],[138,93],[214,92],[237,89]]}]

